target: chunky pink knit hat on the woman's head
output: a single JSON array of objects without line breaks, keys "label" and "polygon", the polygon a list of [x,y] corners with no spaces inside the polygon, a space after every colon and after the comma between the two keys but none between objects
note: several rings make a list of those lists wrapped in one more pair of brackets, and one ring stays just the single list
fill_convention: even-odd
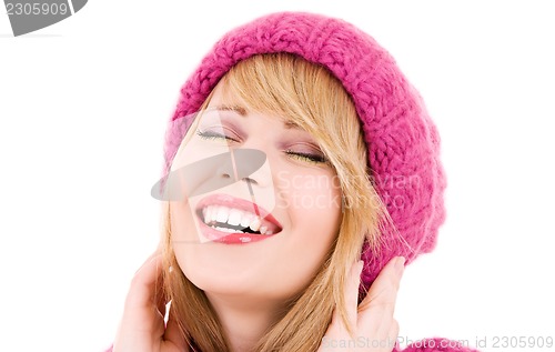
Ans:
[{"label": "chunky pink knit hat on the woman's head", "polygon": [[163,174],[169,173],[192,122],[176,120],[192,120],[236,62],[274,52],[294,53],[326,67],[356,105],[373,170],[371,179],[401,234],[384,231],[377,257],[363,251],[362,286],[367,289],[391,258],[403,255],[410,263],[433,250],[437,229],[445,220],[446,180],[438,159],[440,135],[418,93],[390,53],[354,26],[320,14],[282,12],[225,34],[181,89],[165,134]]}]

